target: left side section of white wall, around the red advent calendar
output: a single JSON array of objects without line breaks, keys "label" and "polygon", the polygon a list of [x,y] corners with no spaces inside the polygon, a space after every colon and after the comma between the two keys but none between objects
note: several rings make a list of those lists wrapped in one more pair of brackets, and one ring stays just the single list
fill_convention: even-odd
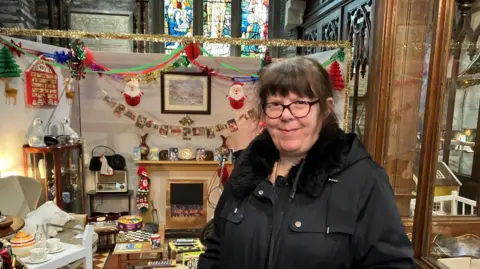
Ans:
[{"label": "left side section of white wall, around the red advent calendar", "polygon": [[[4,36],[2,36],[4,37]],[[26,40],[4,37],[7,40],[13,39],[15,42],[22,42],[22,47],[32,50],[53,53],[61,48],[48,46]],[[2,45],[0,45],[0,48]],[[34,61],[34,58],[22,56],[15,57],[17,64],[22,70]],[[63,96],[63,75],[66,70],[55,68],[58,74],[59,96]],[[5,83],[0,81],[0,176],[11,174],[23,175],[23,151],[22,145],[27,143],[28,132],[34,119],[40,118],[44,124],[53,115],[52,121],[59,122],[63,117],[71,116],[72,107],[67,104],[65,96],[54,108],[34,108],[26,105],[25,94],[25,73],[20,78],[13,78],[9,86],[18,89],[17,105],[5,104]],[[74,110],[74,109],[73,109]],[[73,117],[75,118],[75,116]],[[73,120],[75,122],[75,120]],[[52,124],[53,125],[53,124]]]}]

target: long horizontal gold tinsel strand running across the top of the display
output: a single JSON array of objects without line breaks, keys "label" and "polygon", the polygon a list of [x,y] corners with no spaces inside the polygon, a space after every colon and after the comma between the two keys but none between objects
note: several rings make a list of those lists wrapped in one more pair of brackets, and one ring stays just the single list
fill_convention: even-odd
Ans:
[{"label": "long horizontal gold tinsel strand running across the top of the display", "polygon": [[322,48],[346,48],[350,47],[348,41],[315,41],[315,40],[288,40],[288,39],[243,39],[243,38],[209,38],[203,36],[178,37],[170,35],[154,34],[122,34],[122,33],[91,33],[78,30],[40,30],[21,28],[0,28],[0,35],[8,36],[45,36],[58,38],[90,38],[90,39],[123,39],[151,42],[181,42],[188,44],[198,43],[221,43],[230,45],[263,45],[273,47],[322,47]]}]

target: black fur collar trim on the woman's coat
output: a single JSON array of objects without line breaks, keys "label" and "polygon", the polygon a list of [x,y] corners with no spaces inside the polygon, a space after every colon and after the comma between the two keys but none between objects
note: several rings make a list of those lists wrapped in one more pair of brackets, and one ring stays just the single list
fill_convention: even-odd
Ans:
[{"label": "black fur collar trim on the woman's coat", "polygon": [[[360,152],[355,150],[356,154],[352,155],[352,146],[358,149],[359,145]],[[340,128],[330,132],[322,131],[304,159],[298,190],[318,196],[329,176],[338,174],[350,164],[368,156],[355,134],[347,135]],[[237,199],[244,199],[250,195],[257,185],[272,173],[278,159],[279,152],[268,131],[264,130],[242,152],[235,163],[235,169],[229,180],[234,196]],[[290,182],[293,181],[299,167],[300,165],[296,165],[290,169],[287,176]]]}]

